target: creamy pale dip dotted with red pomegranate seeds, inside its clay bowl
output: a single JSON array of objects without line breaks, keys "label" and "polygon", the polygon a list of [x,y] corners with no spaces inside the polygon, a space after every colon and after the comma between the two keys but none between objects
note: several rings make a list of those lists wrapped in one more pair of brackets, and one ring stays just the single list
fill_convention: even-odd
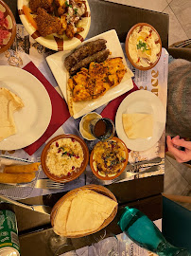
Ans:
[{"label": "creamy pale dip dotted with red pomegranate seeds, inside its clay bowl", "polygon": [[56,176],[78,172],[83,162],[83,150],[75,138],[60,138],[54,141],[47,152],[46,166]]}]

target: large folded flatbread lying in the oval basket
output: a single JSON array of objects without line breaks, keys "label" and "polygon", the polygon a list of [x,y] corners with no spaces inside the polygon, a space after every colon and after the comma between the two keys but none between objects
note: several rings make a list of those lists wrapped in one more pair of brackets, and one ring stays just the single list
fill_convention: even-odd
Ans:
[{"label": "large folded flatbread lying in the oval basket", "polygon": [[105,195],[91,190],[79,191],[62,203],[55,217],[54,231],[66,237],[95,232],[116,206],[117,203]]}]

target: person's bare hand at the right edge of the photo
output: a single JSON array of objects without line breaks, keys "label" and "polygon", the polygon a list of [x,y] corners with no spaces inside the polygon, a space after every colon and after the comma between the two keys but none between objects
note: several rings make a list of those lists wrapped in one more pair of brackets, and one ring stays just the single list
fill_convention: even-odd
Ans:
[{"label": "person's bare hand at the right edge of the photo", "polygon": [[[179,136],[171,137],[167,136],[166,139],[168,151],[174,155],[177,162],[187,162],[191,160],[191,141],[185,141]],[[184,148],[184,151],[180,150],[180,147]]]}]

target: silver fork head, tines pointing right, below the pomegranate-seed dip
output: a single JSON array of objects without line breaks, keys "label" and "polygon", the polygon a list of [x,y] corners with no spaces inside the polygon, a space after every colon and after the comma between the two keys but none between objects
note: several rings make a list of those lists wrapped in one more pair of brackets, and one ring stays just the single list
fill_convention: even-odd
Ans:
[{"label": "silver fork head, tines pointing right, below the pomegranate-seed dip", "polygon": [[55,182],[48,178],[38,179],[35,184],[35,189],[61,190],[63,188],[64,188],[64,183]]}]

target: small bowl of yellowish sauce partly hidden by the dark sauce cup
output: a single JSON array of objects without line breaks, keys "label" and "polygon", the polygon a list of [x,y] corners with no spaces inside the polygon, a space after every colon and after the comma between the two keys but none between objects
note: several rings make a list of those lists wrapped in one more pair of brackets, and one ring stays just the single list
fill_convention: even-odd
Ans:
[{"label": "small bowl of yellowish sauce partly hidden by the dark sauce cup", "polygon": [[79,122],[79,132],[82,137],[87,140],[96,140],[96,137],[93,136],[90,125],[96,122],[98,119],[101,119],[101,115],[96,112],[91,112],[83,116],[83,118]]}]

